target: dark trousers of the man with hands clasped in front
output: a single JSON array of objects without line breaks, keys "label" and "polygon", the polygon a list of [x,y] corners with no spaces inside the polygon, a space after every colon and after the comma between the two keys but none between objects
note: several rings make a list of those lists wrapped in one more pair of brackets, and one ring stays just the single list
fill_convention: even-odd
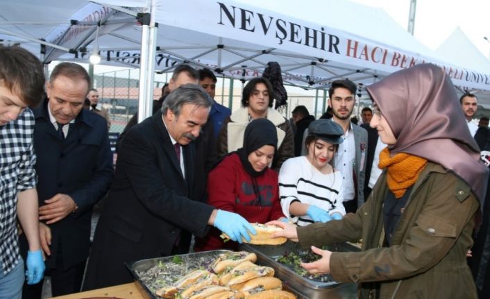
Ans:
[{"label": "dark trousers of the man with hands clasped in front", "polygon": [[[53,293],[53,297],[78,293],[82,286],[83,271],[85,271],[85,262],[65,269],[61,250],[59,250],[56,257],[56,268],[44,272],[44,276],[51,276],[51,293]],[[22,299],[40,299],[42,297],[42,282],[43,280],[38,284],[27,284],[24,282]]]}]

